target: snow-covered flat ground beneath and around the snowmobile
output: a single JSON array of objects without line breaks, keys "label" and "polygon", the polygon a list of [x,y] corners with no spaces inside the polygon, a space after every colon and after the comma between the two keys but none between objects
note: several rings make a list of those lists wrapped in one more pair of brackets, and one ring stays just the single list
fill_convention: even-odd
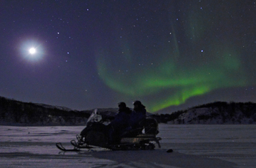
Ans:
[{"label": "snow-covered flat ground beneath and around the snowmobile", "polygon": [[[159,125],[162,148],[60,152],[83,127],[0,126],[1,167],[256,167],[256,125]],[[174,152],[168,153],[167,149]]]}]

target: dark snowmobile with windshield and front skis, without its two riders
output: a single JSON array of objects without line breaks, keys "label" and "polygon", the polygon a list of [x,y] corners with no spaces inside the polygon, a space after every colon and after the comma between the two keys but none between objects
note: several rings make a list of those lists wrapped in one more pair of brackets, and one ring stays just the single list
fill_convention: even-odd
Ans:
[{"label": "dark snowmobile with windshield and front skis, without its two riders", "polygon": [[161,148],[157,137],[159,133],[158,123],[152,117],[140,121],[135,128],[131,128],[122,133],[117,141],[112,143],[109,140],[109,117],[97,112],[97,109],[92,112],[92,115],[87,120],[87,125],[82,130],[80,135],[77,135],[77,140],[72,140],[71,144],[74,149],[66,149],[61,143],[56,143],[56,147],[61,151],[84,151],[83,149],[91,150],[94,148],[105,148],[111,150],[134,150],[134,149],[154,149],[154,143],[157,143]]}]

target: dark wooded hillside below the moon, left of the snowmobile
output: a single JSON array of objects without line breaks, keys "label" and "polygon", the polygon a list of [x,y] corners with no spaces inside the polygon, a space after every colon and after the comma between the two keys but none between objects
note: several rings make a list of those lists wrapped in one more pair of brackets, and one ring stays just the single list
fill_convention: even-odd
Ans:
[{"label": "dark wooded hillside below the moon, left of the snowmobile", "polygon": [[0,121],[5,123],[76,125],[87,120],[92,111],[63,110],[49,105],[23,103],[0,97]]}]

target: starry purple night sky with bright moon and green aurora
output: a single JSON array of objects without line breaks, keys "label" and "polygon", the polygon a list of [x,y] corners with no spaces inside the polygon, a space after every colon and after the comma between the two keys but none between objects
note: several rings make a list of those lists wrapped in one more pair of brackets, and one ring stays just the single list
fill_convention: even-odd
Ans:
[{"label": "starry purple night sky with bright moon and green aurora", "polygon": [[252,0],[1,1],[0,96],[149,112],[256,102],[255,16]]}]

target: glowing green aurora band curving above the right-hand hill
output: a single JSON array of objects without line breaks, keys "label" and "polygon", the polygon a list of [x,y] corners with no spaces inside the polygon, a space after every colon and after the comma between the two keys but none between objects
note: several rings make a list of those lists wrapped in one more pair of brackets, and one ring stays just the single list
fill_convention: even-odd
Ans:
[{"label": "glowing green aurora band curving above the right-hand hill", "polygon": [[158,63],[157,66],[153,63],[147,68],[137,68],[126,73],[120,70],[124,64],[115,67],[102,55],[97,62],[97,68],[100,78],[109,88],[131,98],[154,97],[164,93],[157,100],[147,102],[147,109],[156,112],[171,105],[180,105],[189,98],[218,88],[246,85],[239,57],[231,52],[218,53],[219,59],[207,65],[184,66],[175,63],[170,56],[169,61]]}]

